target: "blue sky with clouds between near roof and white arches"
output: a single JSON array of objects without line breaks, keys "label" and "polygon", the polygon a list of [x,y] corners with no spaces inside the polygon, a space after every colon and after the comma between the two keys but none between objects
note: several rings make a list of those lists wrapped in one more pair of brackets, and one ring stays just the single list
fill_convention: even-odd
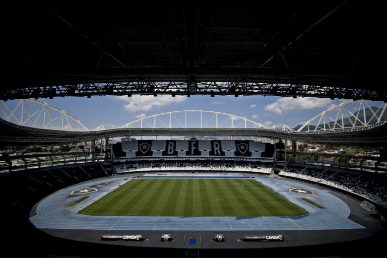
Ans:
[{"label": "blue sky with clouds between near roof and white arches", "polygon": [[[244,116],[266,126],[288,124],[294,127],[313,116],[349,100],[275,96],[93,96],[39,99],[80,119],[90,129],[102,123],[121,126],[138,118],[177,110],[210,110]],[[8,106],[13,102],[7,101]],[[372,105],[381,102],[367,101]],[[4,115],[2,115],[3,117]]]}]

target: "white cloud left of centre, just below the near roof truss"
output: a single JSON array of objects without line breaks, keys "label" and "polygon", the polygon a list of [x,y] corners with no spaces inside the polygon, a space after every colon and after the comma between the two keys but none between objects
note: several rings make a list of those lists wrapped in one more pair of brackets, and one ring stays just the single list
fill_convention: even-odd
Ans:
[{"label": "white cloud left of centre, just below the near roof truss", "polygon": [[168,106],[173,103],[180,103],[186,100],[186,96],[176,96],[172,97],[169,95],[157,96],[140,96],[134,95],[132,97],[126,96],[116,96],[117,99],[125,101],[127,104],[124,105],[124,108],[129,112],[136,111],[149,111],[154,107]]}]

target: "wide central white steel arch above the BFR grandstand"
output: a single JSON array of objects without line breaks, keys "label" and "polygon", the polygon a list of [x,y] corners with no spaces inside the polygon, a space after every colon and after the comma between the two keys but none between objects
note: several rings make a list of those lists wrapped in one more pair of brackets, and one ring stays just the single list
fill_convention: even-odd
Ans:
[{"label": "wide central white steel arch above the BFR grandstand", "polygon": [[[193,115],[195,113],[196,115]],[[189,119],[188,119],[189,118]],[[193,118],[193,119],[192,119]],[[197,119],[197,120],[196,120]],[[181,110],[150,115],[119,128],[267,128],[245,117],[205,110]]]}]

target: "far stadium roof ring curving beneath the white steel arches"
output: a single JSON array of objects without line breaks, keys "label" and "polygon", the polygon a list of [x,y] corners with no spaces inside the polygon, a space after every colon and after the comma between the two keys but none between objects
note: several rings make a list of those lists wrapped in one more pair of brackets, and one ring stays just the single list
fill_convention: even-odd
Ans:
[{"label": "far stadium roof ring curving beneath the white steel arches", "polygon": [[73,132],[32,128],[0,119],[0,145],[83,142],[125,136],[255,136],[332,145],[382,147],[387,143],[387,121],[368,127],[334,132],[286,132],[268,128],[116,128],[103,131]]}]

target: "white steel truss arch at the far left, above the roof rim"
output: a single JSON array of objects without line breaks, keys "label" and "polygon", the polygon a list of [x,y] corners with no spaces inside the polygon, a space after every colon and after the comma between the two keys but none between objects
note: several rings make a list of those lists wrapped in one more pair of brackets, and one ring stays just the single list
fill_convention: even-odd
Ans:
[{"label": "white steel truss arch at the far left, above the roof rim", "polygon": [[19,125],[62,131],[90,131],[74,116],[34,99],[21,99],[13,108],[0,101],[0,109],[6,121]]}]

